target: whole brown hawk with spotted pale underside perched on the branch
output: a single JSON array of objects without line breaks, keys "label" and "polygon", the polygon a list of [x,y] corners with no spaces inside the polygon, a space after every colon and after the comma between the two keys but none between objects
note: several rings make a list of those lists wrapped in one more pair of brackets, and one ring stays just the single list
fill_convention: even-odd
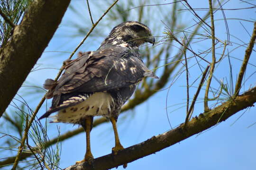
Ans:
[{"label": "whole brown hawk with spotted pale underside perched on the branch", "polygon": [[[150,29],[137,21],[115,26],[96,51],[80,52],[77,59],[64,61],[64,74],[58,81],[46,79],[46,98],[52,106],[41,118],[53,116],[52,122],[81,125],[86,132],[86,153],[82,161],[91,161],[90,132],[94,116],[110,119],[115,135],[112,153],[124,149],[116,127],[122,105],[131,97],[144,77],[158,78],[144,65],[138,47],[154,45]],[[77,163],[78,163],[77,162]]]}]

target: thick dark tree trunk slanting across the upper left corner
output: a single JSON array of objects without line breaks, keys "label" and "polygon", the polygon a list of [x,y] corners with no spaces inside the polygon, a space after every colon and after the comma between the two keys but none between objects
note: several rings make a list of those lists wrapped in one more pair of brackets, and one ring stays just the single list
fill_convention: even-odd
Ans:
[{"label": "thick dark tree trunk slanting across the upper left corner", "polygon": [[70,0],[35,0],[0,49],[0,116],[25,81],[61,22]]}]

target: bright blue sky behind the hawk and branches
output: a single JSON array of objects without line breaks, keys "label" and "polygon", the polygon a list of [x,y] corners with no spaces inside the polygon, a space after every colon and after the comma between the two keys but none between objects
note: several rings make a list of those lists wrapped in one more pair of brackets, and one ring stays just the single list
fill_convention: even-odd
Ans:
[{"label": "bright blue sky behind the hawk and branches", "polygon": [[[101,0],[101,3],[104,1]],[[168,3],[169,1],[160,1],[160,3]],[[82,40],[82,36],[71,37],[69,35],[75,34],[76,29],[70,28],[67,23],[73,21],[74,23],[81,23],[85,27],[90,26],[90,18],[88,15],[88,11],[86,10],[86,4],[84,1],[75,0],[72,1],[73,5],[77,7],[77,9],[81,12],[81,18],[75,17],[72,10],[68,10],[63,18],[62,24],[59,26],[57,32],[54,35],[54,38],[49,43],[46,51],[68,51],[71,52],[77,46],[77,44]],[[201,3],[190,2],[192,7],[194,8],[208,8],[208,2],[201,1]],[[156,4],[148,2],[148,4]],[[135,4],[135,6],[137,6]],[[104,6],[103,6],[104,7]],[[102,7],[102,8],[103,8]],[[182,7],[182,6],[181,6]],[[232,2],[228,2],[223,8],[244,8],[249,7],[248,4],[241,3],[241,1],[234,0]],[[104,8],[107,8],[104,7]],[[169,11],[171,5],[165,5],[163,7],[146,7],[146,8],[155,8],[152,13],[153,17],[148,18],[150,21],[150,25],[153,26],[153,34],[154,31],[156,36],[163,35],[164,26],[160,22],[160,20],[166,21],[163,16],[165,12]],[[182,7],[183,8],[183,7]],[[102,11],[100,11],[95,5],[91,5],[93,18],[96,19],[101,15]],[[131,13],[136,15],[137,9],[132,9]],[[197,11],[199,15],[202,16],[205,11]],[[182,19],[178,22],[187,24],[191,26],[194,24],[192,20],[194,17],[189,12],[181,12],[179,15],[183,15]],[[225,15],[227,18],[243,18],[247,20],[252,20],[256,18],[255,9],[247,9],[247,10],[225,10]],[[160,18],[160,19],[159,19]],[[221,12],[218,11],[216,13],[215,19],[222,19],[223,16]],[[168,19],[168,18],[167,18]],[[210,20],[208,20],[210,21]],[[106,22],[106,21],[103,21]],[[157,29],[157,27],[153,24],[154,22],[158,22],[157,26],[162,24],[161,29]],[[167,21],[166,21],[167,22]],[[229,32],[230,35],[234,35],[239,38],[243,42],[249,42],[250,36],[247,34],[243,26],[239,23],[241,22],[249,32],[252,33],[253,23],[249,23],[246,21],[240,21],[235,19],[228,20]],[[226,38],[226,30],[223,26],[223,20],[219,20],[215,22],[216,28],[216,36],[218,36],[221,40],[225,40]],[[114,24],[116,25],[116,23]],[[150,27],[150,26],[149,26]],[[98,28],[96,28],[98,29]],[[105,30],[96,30],[101,32],[101,34],[107,36],[110,29],[108,27]],[[154,34],[155,35],[155,34]],[[180,34],[179,34],[180,35]],[[231,36],[230,41],[239,42],[237,38]],[[157,38],[156,38],[157,39]],[[91,37],[89,38],[80,48],[80,51],[90,51],[96,50],[103,37]],[[242,43],[242,42],[239,42]],[[164,45],[164,44],[163,44]],[[247,45],[245,45],[246,47]],[[207,49],[210,47],[210,41],[204,41],[201,43],[195,44],[193,50],[198,52],[200,49]],[[236,47],[236,44],[230,45],[229,51],[232,51]],[[230,56],[236,57],[238,59],[243,59],[245,47],[240,47],[232,53],[230,52]],[[156,47],[159,48],[159,47]],[[175,51],[175,49],[174,49]],[[217,50],[217,52],[222,51],[222,48]],[[252,56],[249,60],[250,63],[256,63],[255,52],[252,53]],[[45,67],[53,67],[60,68],[62,65],[62,61],[68,58],[69,53],[63,52],[44,52],[42,57],[38,60],[38,64],[42,64],[40,68]],[[192,56],[191,53],[187,54],[189,57]],[[207,58],[210,60],[210,55]],[[195,59],[191,59],[189,65],[192,66],[196,63]],[[222,79],[227,77],[229,79],[229,65],[228,58],[223,59],[223,62],[216,68],[216,72],[214,76],[216,78]],[[241,61],[237,59],[231,58],[232,68],[233,68],[233,76],[234,79],[238,75],[238,71],[240,68]],[[202,64],[203,65],[203,64]],[[205,64],[204,64],[205,66]],[[248,66],[246,78],[249,77],[250,74],[255,72],[255,66]],[[54,78],[57,74],[56,69],[42,69],[40,71],[32,72],[27,78],[27,84],[33,83],[42,87],[44,80],[46,78]],[[197,77],[200,76],[200,71],[197,66],[190,68],[190,77],[191,82]],[[161,72],[159,72],[160,74]],[[227,83],[227,82],[226,82]],[[26,84],[26,83],[25,83]],[[167,85],[169,86],[170,83]],[[144,102],[143,104],[137,106],[134,110],[129,110],[125,114],[119,117],[118,129],[119,129],[119,137],[120,141],[124,147],[131,146],[133,144],[138,144],[140,142],[145,141],[146,139],[156,136],[158,134],[164,133],[170,130],[170,125],[167,120],[167,116],[170,119],[171,125],[173,127],[178,126],[185,119],[185,107],[178,109],[180,106],[185,106],[184,102],[186,99],[186,78],[185,73],[183,73],[177,81],[171,86],[170,91],[168,93],[167,98],[167,114],[166,114],[166,96],[167,90],[156,93],[149,100]],[[195,83],[195,86],[198,85],[198,82]],[[249,86],[256,85],[256,76],[251,76],[248,81],[245,83],[244,89],[248,89]],[[213,81],[214,87],[219,87],[216,81]],[[23,87],[20,89],[19,93],[26,93],[26,88]],[[203,97],[204,91],[201,91],[200,97]],[[194,92],[191,91],[191,96],[193,96]],[[33,98],[33,102],[31,101]],[[37,103],[40,100],[40,96],[34,97],[29,96],[27,100],[31,101],[31,107],[35,108]],[[200,100],[202,101],[202,100]],[[183,103],[181,105],[177,105],[178,103]],[[49,107],[50,101],[48,101]],[[176,110],[178,109],[178,110]],[[41,116],[46,110],[46,105],[41,108],[38,115]],[[202,103],[197,103],[194,109],[193,116],[200,114],[203,112]],[[243,114],[244,110],[235,114],[225,122],[220,123],[218,126],[211,128],[210,130],[202,132],[200,135],[192,136],[184,141],[181,141],[178,144],[174,144],[160,152],[155,154],[146,156],[137,161],[128,163],[127,170],[253,170],[256,166],[256,125],[252,125],[256,122],[256,109],[250,108]],[[243,114],[243,115],[242,115]],[[241,116],[242,115],[242,116]],[[126,119],[123,119],[126,116]],[[241,117],[240,117],[241,116]],[[240,118],[239,118],[240,117]],[[239,119],[238,119],[239,118]],[[238,119],[238,120],[237,120]],[[237,121],[236,121],[237,120]],[[235,122],[235,123],[234,123]],[[234,123],[234,124],[233,124]],[[77,128],[77,126],[66,125],[66,124],[57,124],[60,126],[61,133],[65,133],[66,131],[73,130]],[[49,136],[54,137],[57,134],[56,124],[49,125]],[[74,164],[75,161],[82,160],[85,153],[85,133],[81,133],[73,138],[65,140],[62,142],[62,153],[61,153],[61,161],[60,167],[65,168]],[[114,134],[112,130],[112,126],[110,123],[102,124],[98,127],[95,127],[91,131],[91,150],[95,158],[99,156],[103,156],[105,154],[109,154],[111,152],[111,148],[114,146]],[[118,169],[123,169],[119,167]]]}]

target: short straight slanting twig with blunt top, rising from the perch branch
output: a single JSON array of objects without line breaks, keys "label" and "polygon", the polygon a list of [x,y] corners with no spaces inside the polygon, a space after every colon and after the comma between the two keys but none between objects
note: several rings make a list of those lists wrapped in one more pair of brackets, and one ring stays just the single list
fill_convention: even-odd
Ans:
[{"label": "short straight slanting twig with blunt top, rising from the perch branch", "polygon": [[199,84],[199,86],[198,86],[198,88],[197,88],[197,91],[196,91],[196,93],[195,93],[195,95],[194,95],[194,98],[193,98],[193,100],[192,100],[191,106],[190,106],[189,111],[188,111],[188,113],[187,113],[187,116],[186,116],[186,119],[185,119],[185,123],[184,123],[184,127],[186,127],[186,124],[187,124],[187,122],[189,121],[189,118],[190,118],[191,115],[192,115],[191,112],[192,112],[192,110],[194,109],[194,105],[195,105],[196,99],[197,99],[197,97],[198,97],[198,95],[199,95],[199,92],[201,91],[201,87],[202,87],[202,85],[203,85],[203,82],[204,82],[204,80],[205,80],[205,77],[206,77],[206,74],[207,74],[207,72],[208,72],[209,67],[210,67],[210,65],[208,65],[208,66],[206,67],[206,69],[204,70],[204,72],[203,72],[203,74],[202,74],[202,78],[201,78],[200,84]]}]

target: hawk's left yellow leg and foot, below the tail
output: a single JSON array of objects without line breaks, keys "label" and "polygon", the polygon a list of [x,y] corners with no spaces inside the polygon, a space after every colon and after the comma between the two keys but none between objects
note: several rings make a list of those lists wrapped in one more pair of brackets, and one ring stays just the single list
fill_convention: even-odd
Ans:
[{"label": "hawk's left yellow leg and foot, below the tail", "polygon": [[76,164],[84,161],[88,161],[91,164],[91,161],[93,161],[93,156],[91,154],[91,143],[90,143],[90,132],[92,129],[92,122],[93,122],[93,117],[89,116],[88,118],[85,119],[85,122],[82,123],[82,127],[84,128],[86,133],[86,153],[84,155],[84,159],[82,161],[76,161]]}]

